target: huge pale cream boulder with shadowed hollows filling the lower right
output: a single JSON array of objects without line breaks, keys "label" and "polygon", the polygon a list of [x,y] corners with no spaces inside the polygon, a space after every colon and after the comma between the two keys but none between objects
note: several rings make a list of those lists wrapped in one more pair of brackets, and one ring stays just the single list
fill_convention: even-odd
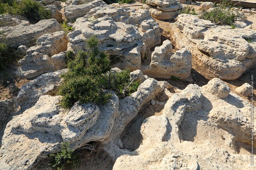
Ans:
[{"label": "huge pale cream boulder with shadowed hollows filling the lower right", "polygon": [[[220,90],[211,82],[206,86]],[[250,146],[249,117],[250,104],[234,93],[223,100],[206,88],[188,85],[168,99],[162,115],[143,121],[139,148],[116,156],[113,169],[253,168],[250,152],[234,151]]]}]

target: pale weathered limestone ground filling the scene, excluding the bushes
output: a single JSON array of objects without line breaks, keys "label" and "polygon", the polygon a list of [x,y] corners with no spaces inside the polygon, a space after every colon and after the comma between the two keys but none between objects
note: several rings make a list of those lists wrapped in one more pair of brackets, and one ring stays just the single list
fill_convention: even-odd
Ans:
[{"label": "pale weathered limestone ground filling the scene, excluding the bushes", "polygon": [[[231,29],[188,14],[176,18],[182,6],[207,8],[198,2],[146,3],[55,4],[54,18],[72,26],[67,35],[55,19],[8,26],[8,43],[25,49],[25,57],[0,73],[2,169],[51,169],[46,156],[59,152],[62,141],[80,155],[81,170],[255,168],[256,16]],[[141,85],[124,99],[113,92],[106,105],[76,103],[66,111],[55,93],[67,71],[65,53],[83,49],[91,35],[112,67],[130,68]]]}]

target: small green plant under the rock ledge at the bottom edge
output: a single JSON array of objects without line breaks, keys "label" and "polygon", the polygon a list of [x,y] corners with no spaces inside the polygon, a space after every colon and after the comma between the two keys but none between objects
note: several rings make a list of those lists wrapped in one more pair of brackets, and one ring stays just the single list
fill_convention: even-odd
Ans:
[{"label": "small green plant under the rock ledge at the bottom edge", "polygon": [[52,159],[50,166],[57,170],[64,170],[79,164],[78,155],[74,153],[74,150],[70,149],[68,142],[62,142],[61,149],[61,152],[49,155]]}]

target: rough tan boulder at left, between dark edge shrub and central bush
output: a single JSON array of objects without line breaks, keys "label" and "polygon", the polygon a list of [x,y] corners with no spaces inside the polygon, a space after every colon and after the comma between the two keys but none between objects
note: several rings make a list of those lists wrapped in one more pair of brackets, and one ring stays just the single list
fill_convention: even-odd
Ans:
[{"label": "rough tan boulder at left, between dark edge shrub and central bush", "polygon": [[[30,47],[26,51],[26,56],[20,59],[19,64],[22,74],[26,79],[32,79],[43,73],[49,73],[58,69],[64,69],[63,55],[60,61],[58,57],[53,56],[67,49],[68,39],[64,31],[48,33],[40,36],[36,41],[36,46]],[[53,56],[53,59],[51,58]],[[54,63],[56,66],[54,67]],[[63,67],[61,67],[63,66]]]}]

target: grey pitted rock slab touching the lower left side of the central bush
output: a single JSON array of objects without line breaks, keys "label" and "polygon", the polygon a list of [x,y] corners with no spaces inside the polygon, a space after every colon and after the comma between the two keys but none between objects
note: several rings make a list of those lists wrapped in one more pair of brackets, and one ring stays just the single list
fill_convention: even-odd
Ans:
[{"label": "grey pitted rock slab touching the lower left side of the central bush", "polygon": [[42,95],[52,95],[60,85],[60,75],[66,71],[67,69],[63,69],[53,73],[45,73],[23,85],[16,97],[20,109],[25,111],[34,106]]}]

